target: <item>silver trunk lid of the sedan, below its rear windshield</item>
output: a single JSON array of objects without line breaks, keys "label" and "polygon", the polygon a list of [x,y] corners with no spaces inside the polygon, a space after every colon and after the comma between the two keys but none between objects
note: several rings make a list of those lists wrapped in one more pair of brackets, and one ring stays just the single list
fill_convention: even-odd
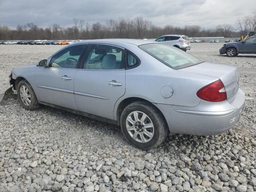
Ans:
[{"label": "silver trunk lid of the sedan, below its rear windshield", "polygon": [[224,84],[228,102],[232,102],[238,92],[239,76],[234,66],[203,62],[180,71],[219,78]]}]

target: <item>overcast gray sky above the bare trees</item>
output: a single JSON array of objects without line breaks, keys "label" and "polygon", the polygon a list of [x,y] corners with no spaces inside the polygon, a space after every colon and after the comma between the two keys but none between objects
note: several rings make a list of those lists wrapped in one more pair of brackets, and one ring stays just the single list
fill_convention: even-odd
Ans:
[{"label": "overcast gray sky above the bare trees", "polygon": [[[244,6],[241,6],[244,5]],[[16,28],[73,25],[73,18],[105,23],[142,16],[156,26],[234,24],[238,16],[256,12],[256,0],[0,0],[0,26]]]}]

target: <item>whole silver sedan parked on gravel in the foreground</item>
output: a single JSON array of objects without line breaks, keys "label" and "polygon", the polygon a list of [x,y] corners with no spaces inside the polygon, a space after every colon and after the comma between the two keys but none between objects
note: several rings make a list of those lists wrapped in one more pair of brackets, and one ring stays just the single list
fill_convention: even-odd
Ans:
[{"label": "whole silver sedan parked on gravel in the foreground", "polygon": [[145,150],[168,132],[224,132],[238,122],[245,102],[236,67],[147,40],[79,41],[14,68],[10,84],[27,110],[44,104],[120,125]]}]

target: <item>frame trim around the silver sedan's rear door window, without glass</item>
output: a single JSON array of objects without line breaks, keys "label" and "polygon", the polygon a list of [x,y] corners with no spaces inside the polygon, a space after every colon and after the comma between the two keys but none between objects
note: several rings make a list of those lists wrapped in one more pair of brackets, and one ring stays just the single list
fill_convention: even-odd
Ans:
[{"label": "frame trim around the silver sedan's rear door window, without glass", "polygon": [[89,54],[89,50],[91,48],[92,45],[105,45],[105,46],[111,46],[111,47],[117,47],[120,48],[124,51],[124,57],[126,58],[126,51],[124,48],[116,46],[116,45],[112,45],[112,44],[105,44],[105,43],[89,43],[90,46],[86,52],[86,55],[82,58],[82,60],[80,61],[80,65],[79,65],[79,70],[88,70],[88,71],[120,71],[120,70],[125,70],[126,69],[126,59],[124,61],[124,68],[122,69],[84,69],[84,64],[86,59],[88,58],[88,54]]}]

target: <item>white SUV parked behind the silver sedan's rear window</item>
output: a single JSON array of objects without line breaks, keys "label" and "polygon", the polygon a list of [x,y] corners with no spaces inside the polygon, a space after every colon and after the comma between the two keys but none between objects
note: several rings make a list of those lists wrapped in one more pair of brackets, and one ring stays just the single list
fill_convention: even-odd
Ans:
[{"label": "white SUV parked behind the silver sedan's rear window", "polygon": [[184,51],[191,49],[190,40],[188,40],[188,36],[185,35],[163,35],[155,41],[170,44]]}]

